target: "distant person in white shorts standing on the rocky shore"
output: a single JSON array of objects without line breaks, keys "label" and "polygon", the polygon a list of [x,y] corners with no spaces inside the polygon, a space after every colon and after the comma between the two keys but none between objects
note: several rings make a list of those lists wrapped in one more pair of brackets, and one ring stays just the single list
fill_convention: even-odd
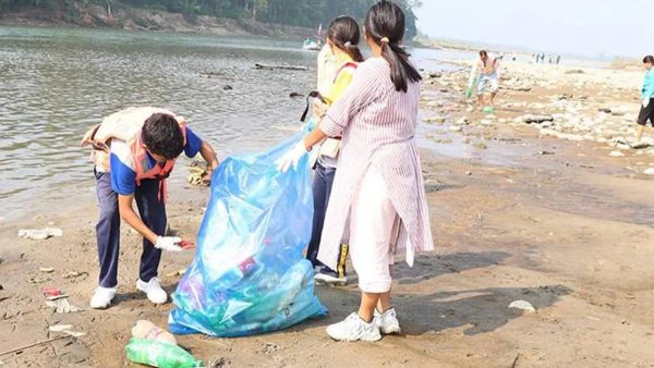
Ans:
[{"label": "distant person in white shorts standing on the rocky shore", "polygon": [[468,81],[468,96],[476,83],[476,95],[480,109],[485,107],[484,94],[491,93],[488,105],[493,107],[499,89],[499,60],[486,50],[480,51],[480,58],[473,63]]}]

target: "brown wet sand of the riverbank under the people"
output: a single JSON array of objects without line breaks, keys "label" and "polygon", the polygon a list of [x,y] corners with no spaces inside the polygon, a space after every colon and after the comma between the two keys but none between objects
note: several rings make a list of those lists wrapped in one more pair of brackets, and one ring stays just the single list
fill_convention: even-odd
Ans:
[{"label": "brown wet sand of the riverbank under the people", "polygon": [[[519,73],[507,77],[543,75],[543,68],[554,73],[554,66],[521,64]],[[316,289],[328,318],[242,339],[179,336],[180,344],[207,364],[222,359],[222,366],[232,367],[654,366],[649,349],[654,343],[649,308],[654,304],[654,186],[643,174],[654,158],[633,149],[610,157],[618,148],[608,142],[561,139],[517,123],[525,113],[556,113],[549,101],[569,94],[572,85],[574,96],[621,88],[623,94],[611,95],[607,103],[638,109],[628,82],[605,86],[602,78],[591,81],[595,73],[604,71],[566,74],[561,68],[550,81],[556,88],[531,84],[530,91],[504,89],[495,118],[469,111],[472,105],[461,98],[464,73],[425,81],[423,140],[433,149],[423,151],[423,170],[437,252],[421,255],[413,269],[404,263],[396,268],[402,335],[378,343],[337,343],[325,334],[328,323],[355,308],[359,292],[351,273],[348,286]],[[631,72],[610,73],[618,73],[619,82],[619,73]],[[528,111],[532,103],[542,103],[542,111]],[[468,123],[456,124],[463,116]],[[170,194],[170,224],[193,237],[206,189],[178,187]],[[128,226],[117,303],[108,310],[87,308],[97,277],[94,206],[89,193],[82,205],[62,203],[40,217],[0,222],[0,352],[56,336],[48,332],[50,324],[73,324],[87,333],[0,356],[4,365],[129,366],[123,348],[131,326],[137,319],[166,326],[171,305],[152,306],[135,291],[141,238]],[[17,229],[49,223],[63,229],[64,236],[16,237]],[[169,292],[179,280],[170,274],[192,257],[164,256],[160,278]],[[55,271],[43,273],[39,267]],[[68,271],[83,273],[64,279]],[[53,314],[40,293],[51,284],[86,310]],[[518,299],[536,311],[509,309]]]}]

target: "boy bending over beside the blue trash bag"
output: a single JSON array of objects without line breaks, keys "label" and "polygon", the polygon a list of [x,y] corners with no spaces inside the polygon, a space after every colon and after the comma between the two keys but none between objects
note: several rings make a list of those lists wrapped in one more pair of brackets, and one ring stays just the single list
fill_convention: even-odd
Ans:
[{"label": "boy bending over beside the blue trash bag", "polygon": [[[183,118],[156,108],[129,108],[107,116],[90,128],[82,142],[93,147],[96,196],[100,210],[96,225],[99,285],[90,307],[109,307],[118,285],[121,219],[143,235],[136,289],[154,304],[168,294],[159,285],[157,269],[161,250],[180,252],[184,242],[166,236],[166,177],[182,154],[198,152],[214,170],[218,159],[211,146],[186,126]],[[136,201],[138,214],[133,209]]]}]

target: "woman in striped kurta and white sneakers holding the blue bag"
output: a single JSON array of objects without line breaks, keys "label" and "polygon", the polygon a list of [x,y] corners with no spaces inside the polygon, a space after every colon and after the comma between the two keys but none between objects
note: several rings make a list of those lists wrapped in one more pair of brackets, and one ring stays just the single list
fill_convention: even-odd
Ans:
[{"label": "woman in striped kurta and white sneakers holding the blue bag", "polygon": [[364,26],[372,58],[359,65],[318,127],[279,163],[288,170],[318,142],[342,135],[318,259],[336,268],[347,237],[362,293],[358,311],[327,327],[338,341],[399,333],[390,296],[393,256],[404,252],[413,266],[416,252],[434,248],[416,144],[421,75],[402,47],[404,14],[396,3],[380,1],[368,10]]}]

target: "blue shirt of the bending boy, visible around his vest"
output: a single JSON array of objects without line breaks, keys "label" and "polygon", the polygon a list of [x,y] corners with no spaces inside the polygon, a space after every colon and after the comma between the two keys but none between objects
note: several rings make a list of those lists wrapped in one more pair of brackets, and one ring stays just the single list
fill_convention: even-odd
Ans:
[{"label": "blue shirt of the bending boy, visible around his vest", "polygon": [[[186,145],[184,154],[193,158],[199,152],[202,139],[186,127]],[[113,192],[129,196],[136,192],[136,169],[132,158],[130,146],[121,139],[112,139],[109,152],[109,164],[111,167],[111,188]],[[149,170],[157,164],[157,161],[147,155],[147,164],[144,170]]]}]

